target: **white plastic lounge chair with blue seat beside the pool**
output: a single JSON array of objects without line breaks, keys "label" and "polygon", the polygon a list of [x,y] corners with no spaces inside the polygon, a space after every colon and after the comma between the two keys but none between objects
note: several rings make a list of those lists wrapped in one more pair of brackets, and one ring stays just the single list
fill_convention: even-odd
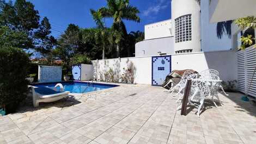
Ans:
[{"label": "white plastic lounge chair with blue seat beside the pool", "polygon": [[[57,87],[60,87],[60,90],[57,91]],[[62,98],[66,98],[69,96],[69,91],[64,91],[64,87],[62,84],[57,84],[54,86],[54,89],[50,89],[49,87],[35,87],[29,86],[30,93],[33,97],[33,105],[34,107],[38,107],[40,102],[55,102]]]}]

